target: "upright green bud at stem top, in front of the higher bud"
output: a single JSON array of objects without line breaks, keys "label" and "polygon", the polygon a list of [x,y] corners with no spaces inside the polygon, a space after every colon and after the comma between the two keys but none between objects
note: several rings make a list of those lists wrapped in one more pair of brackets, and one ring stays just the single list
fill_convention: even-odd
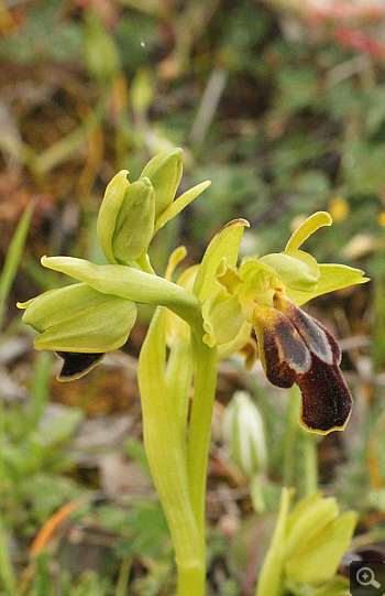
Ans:
[{"label": "upright green bud at stem top, in front of the higher bud", "polygon": [[127,174],[122,170],[107,186],[97,224],[100,246],[112,264],[135,261],[154,231],[154,188],[148,178],[130,184]]}]

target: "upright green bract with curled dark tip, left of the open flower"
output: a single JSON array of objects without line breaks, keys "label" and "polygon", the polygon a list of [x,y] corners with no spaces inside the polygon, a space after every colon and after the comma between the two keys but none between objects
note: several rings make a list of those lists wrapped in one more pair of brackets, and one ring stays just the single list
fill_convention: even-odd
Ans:
[{"label": "upright green bract with curled dark tip, left of the open flower", "polygon": [[223,257],[228,266],[237,266],[244,227],[249,227],[245,219],[234,219],[224,226],[209,243],[194,284],[194,293],[201,302],[218,290],[216,274]]}]

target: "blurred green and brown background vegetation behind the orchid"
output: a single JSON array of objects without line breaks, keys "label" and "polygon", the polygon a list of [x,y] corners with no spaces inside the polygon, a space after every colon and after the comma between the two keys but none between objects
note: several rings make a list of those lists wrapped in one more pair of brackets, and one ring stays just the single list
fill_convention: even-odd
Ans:
[{"label": "blurred green and brown background vegetation behind the orchid", "polygon": [[[172,546],[151,485],[125,502],[124,495],[106,490],[95,453],[95,464],[81,465],[68,446],[88,418],[131,413],[138,392],[122,395],[116,383],[118,397],[111,398],[113,369],[107,382],[105,372],[96,372],[87,384],[79,381],[80,389],[57,389],[52,361],[33,353],[14,303],[61,283],[41,270],[42,254],[101,262],[95,221],[106,184],[122,167],[135,180],[153,154],[174,145],[184,149],[182,191],[204,180],[212,184],[155,239],[152,261],[158,271],[178,243],[198,261],[230,219],[250,220],[244,252],[262,254],[283,250],[298,221],[328,209],[333,226],[310,238],[306,249],[372,278],[367,286],[312,306],[344,338],[343,367],[355,397],[343,437],[324,437],[317,449],[321,486],[337,495],[342,509],[360,511],[355,548],[382,543],[384,549],[385,54],[378,55],[384,15],[363,8],[356,18],[343,11],[320,18],[304,13],[304,4],[28,0],[0,6],[1,595],[173,594]],[[343,28],[366,45],[349,45],[346,31],[342,43]],[[32,201],[33,214],[18,228]],[[142,328],[145,322],[144,311]],[[138,355],[141,325],[128,355]],[[14,340],[20,342],[15,356],[6,357]],[[304,438],[290,422],[287,400],[255,375],[240,375],[219,397],[227,403],[240,383],[261,407],[270,445],[267,513],[250,517],[248,490],[237,485],[223,455],[215,456],[222,448],[215,433],[209,490],[219,505],[209,499],[208,506],[212,595],[252,594],[280,486],[289,478],[299,495],[304,491]],[[111,400],[107,405],[102,391]],[[65,410],[46,425],[52,401]],[[130,446],[98,448],[99,455],[107,451],[136,462],[146,477],[138,427]],[[228,496],[221,501],[222,489]],[[32,567],[34,537],[78,498],[85,501],[56,528]],[[69,553],[76,540],[82,553],[90,549],[88,528],[97,530],[95,559],[75,573]],[[237,544],[246,544],[248,552]],[[13,568],[4,563],[8,556]]]}]

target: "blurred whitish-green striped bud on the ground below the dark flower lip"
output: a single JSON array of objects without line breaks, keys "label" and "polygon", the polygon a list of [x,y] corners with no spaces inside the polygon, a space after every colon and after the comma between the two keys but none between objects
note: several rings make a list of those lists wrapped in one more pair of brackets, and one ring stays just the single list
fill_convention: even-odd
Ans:
[{"label": "blurred whitish-green striped bud on the ground below the dark flower lip", "polygon": [[223,436],[231,458],[250,479],[254,509],[263,511],[261,481],[267,466],[266,443],[260,411],[245,391],[237,391],[226,410]]}]

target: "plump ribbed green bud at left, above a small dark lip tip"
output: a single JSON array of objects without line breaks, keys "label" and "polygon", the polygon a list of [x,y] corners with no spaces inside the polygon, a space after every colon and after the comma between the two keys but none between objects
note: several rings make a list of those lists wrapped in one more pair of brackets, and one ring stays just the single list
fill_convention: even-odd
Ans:
[{"label": "plump ribbed green bud at left, above a small dark lip tip", "polygon": [[76,283],[18,304],[36,349],[99,354],[120,348],[136,319],[133,302]]}]

